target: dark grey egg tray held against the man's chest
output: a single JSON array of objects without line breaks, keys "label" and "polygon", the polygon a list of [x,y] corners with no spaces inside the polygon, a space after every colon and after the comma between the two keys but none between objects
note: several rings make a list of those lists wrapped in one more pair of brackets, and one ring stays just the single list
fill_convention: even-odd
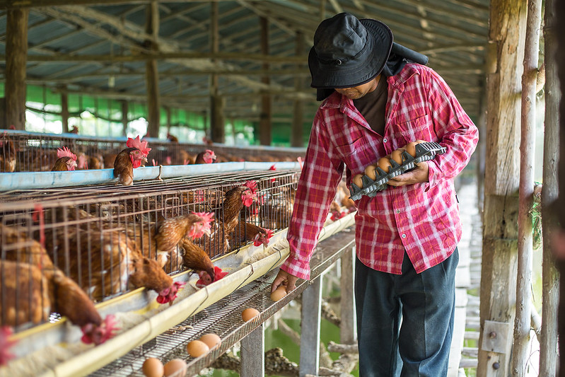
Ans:
[{"label": "dark grey egg tray held against the man's chest", "polygon": [[377,195],[377,192],[383,191],[388,187],[387,182],[390,178],[404,174],[415,168],[417,163],[429,161],[434,158],[436,154],[443,153],[445,153],[445,146],[441,146],[438,143],[426,141],[424,143],[416,144],[416,157],[412,157],[410,153],[403,151],[402,165],[391,158],[388,173],[385,173],[383,169],[377,167],[375,169],[375,173],[377,175],[376,180],[372,180],[371,178],[368,178],[368,176],[363,175],[361,178],[363,187],[359,187],[355,183],[351,182],[351,185],[349,186],[349,193],[351,194],[350,198],[357,200],[361,199],[362,195],[374,197]]}]

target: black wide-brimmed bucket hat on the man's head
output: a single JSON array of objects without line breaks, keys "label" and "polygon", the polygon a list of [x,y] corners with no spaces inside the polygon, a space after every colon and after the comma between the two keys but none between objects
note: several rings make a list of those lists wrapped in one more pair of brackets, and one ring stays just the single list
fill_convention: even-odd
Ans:
[{"label": "black wide-brimmed bucket hat on the man's head", "polygon": [[380,74],[392,47],[392,31],[370,18],[339,13],[322,21],[308,54],[313,88],[351,88]]}]

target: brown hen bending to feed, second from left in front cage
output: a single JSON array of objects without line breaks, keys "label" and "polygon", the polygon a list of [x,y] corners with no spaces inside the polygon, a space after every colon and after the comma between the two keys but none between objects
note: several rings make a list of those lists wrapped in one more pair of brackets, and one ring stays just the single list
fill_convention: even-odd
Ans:
[{"label": "brown hen bending to feed, second from left in front cage", "polygon": [[159,303],[175,300],[183,284],[173,282],[155,259],[144,257],[123,229],[110,222],[100,227],[95,216],[81,210],[69,211],[68,219],[89,221],[47,231],[47,253],[93,299],[145,287],[157,292]]}]

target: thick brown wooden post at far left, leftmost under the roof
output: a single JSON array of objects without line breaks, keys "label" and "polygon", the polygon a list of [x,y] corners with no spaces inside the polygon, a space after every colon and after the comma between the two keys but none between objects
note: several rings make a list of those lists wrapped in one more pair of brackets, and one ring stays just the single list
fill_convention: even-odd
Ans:
[{"label": "thick brown wooden post at far left, leftmost under the roof", "polygon": [[6,12],[6,128],[25,129],[25,62],[28,56],[29,8]]}]

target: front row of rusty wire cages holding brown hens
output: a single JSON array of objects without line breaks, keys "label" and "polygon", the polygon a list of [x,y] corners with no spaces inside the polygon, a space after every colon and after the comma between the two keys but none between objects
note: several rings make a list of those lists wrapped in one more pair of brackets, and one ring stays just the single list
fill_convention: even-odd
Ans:
[{"label": "front row of rusty wire cages holding brown hens", "polygon": [[[289,224],[299,175],[299,169],[255,170],[119,189],[104,184],[0,193],[0,325],[18,332],[53,318],[57,295],[68,294],[52,286],[54,271],[93,303],[139,287],[161,296],[163,280],[170,284],[174,274],[205,270],[201,259],[213,261],[250,243],[267,245],[272,232]],[[206,219],[208,228],[187,231],[190,221]],[[258,232],[267,238],[258,240]]]}]

